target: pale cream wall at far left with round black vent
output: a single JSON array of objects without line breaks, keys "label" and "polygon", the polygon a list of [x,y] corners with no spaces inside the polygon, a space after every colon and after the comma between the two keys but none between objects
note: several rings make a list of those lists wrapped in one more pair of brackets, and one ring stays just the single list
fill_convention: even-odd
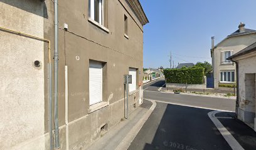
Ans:
[{"label": "pale cream wall at far left with round black vent", "polygon": [[[1,27],[43,37],[43,2],[3,0],[0,10]],[[0,149],[45,149],[44,42],[0,31],[0,46]]]}]

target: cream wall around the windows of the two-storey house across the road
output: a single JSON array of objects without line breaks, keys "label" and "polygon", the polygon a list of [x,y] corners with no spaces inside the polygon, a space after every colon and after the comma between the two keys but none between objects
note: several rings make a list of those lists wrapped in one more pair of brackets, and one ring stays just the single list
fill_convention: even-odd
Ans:
[{"label": "cream wall around the windows of the two-storey house across the road", "polygon": [[[221,51],[229,51],[232,50],[233,54],[241,51],[247,46],[250,46],[256,42],[256,34],[247,34],[243,36],[235,36],[229,37],[225,39],[225,41],[221,42],[214,49],[214,80],[215,80],[215,89],[218,88],[218,84],[220,83],[220,70],[235,70],[235,64],[221,64]],[[235,81],[236,81],[236,73],[235,73]]]}]

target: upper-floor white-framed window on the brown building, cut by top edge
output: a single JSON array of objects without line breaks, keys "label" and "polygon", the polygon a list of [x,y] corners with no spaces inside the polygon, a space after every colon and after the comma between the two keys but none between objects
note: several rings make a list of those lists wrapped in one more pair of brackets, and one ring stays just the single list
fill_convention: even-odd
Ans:
[{"label": "upper-floor white-framed window on the brown building, cut by top edge", "polygon": [[89,17],[104,26],[104,1],[89,0]]}]

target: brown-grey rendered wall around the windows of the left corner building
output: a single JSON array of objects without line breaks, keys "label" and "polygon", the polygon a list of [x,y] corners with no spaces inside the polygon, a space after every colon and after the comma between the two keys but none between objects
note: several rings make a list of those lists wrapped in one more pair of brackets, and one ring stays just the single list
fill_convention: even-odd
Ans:
[{"label": "brown-grey rendered wall around the windows of the left corner building", "polygon": [[[66,148],[65,133],[65,65],[68,66],[69,148],[80,149],[95,141],[124,118],[124,74],[137,68],[137,88],[142,81],[142,25],[125,1],[108,1],[109,32],[88,21],[88,1],[59,1],[59,123],[61,148]],[[47,2],[45,37],[53,35],[52,3]],[[128,36],[124,37],[124,14],[128,17]],[[68,31],[63,24],[68,24]],[[45,53],[46,55],[46,53]],[[79,59],[77,60],[77,56]],[[105,63],[103,100],[109,105],[89,113],[89,60]],[[141,73],[141,74],[139,74]],[[129,112],[139,106],[139,93],[129,96]],[[45,113],[47,116],[47,112]],[[46,124],[46,123],[45,123]],[[47,124],[46,124],[47,126]]]}]

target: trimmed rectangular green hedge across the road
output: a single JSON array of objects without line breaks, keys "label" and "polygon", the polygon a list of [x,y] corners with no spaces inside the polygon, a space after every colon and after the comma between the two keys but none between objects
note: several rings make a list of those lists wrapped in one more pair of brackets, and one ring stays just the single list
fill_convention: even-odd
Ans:
[{"label": "trimmed rectangular green hedge across the road", "polygon": [[203,84],[203,68],[164,69],[166,83]]}]

